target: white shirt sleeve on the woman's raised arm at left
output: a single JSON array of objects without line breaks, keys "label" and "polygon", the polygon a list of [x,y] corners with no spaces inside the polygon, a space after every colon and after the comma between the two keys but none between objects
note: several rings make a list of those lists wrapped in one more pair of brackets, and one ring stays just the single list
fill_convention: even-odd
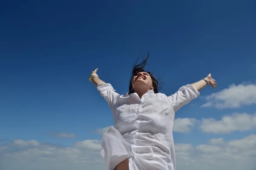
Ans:
[{"label": "white shirt sleeve on the woman's raised arm at left", "polygon": [[109,84],[109,83],[98,84],[97,85],[97,90],[99,91],[100,95],[102,95],[105,98],[105,100],[108,102],[109,107],[112,110],[113,105],[115,104],[117,98],[120,95],[115,92],[112,85]]}]

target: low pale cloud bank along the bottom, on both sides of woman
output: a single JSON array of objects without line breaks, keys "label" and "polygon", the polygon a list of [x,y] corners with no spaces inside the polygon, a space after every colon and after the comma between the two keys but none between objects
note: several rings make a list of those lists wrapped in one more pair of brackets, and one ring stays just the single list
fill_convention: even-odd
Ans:
[{"label": "low pale cloud bank along the bottom, on both sides of woman", "polygon": [[[18,142],[17,142],[18,141]],[[22,142],[21,142],[22,141]],[[33,141],[33,142],[31,142]],[[1,170],[106,170],[99,154],[100,141],[84,140],[71,147],[44,144],[35,140],[15,140],[20,148],[0,147]],[[26,143],[26,148],[23,146]],[[33,145],[37,143],[37,145]],[[177,170],[255,170],[256,135],[224,141],[211,139],[207,144],[175,144]],[[254,169],[253,169],[254,168]]]}]

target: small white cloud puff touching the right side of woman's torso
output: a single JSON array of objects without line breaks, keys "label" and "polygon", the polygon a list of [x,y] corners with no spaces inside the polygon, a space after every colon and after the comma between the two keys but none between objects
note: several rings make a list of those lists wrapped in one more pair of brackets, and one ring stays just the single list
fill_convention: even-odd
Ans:
[{"label": "small white cloud puff touching the right side of woman's torso", "polygon": [[191,127],[195,125],[196,119],[191,118],[177,118],[174,122],[173,131],[180,133],[188,133]]}]

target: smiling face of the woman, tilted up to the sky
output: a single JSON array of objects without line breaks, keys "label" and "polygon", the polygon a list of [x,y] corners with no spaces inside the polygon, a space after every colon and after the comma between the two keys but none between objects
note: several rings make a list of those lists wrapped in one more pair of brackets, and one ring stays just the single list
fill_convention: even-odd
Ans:
[{"label": "smiling face of the woman, tilted up to the sky", "polygon": [[131,84],[134,90],[140,88],[151,89],[152,79],[147,72],[139,72],[136,76],[133,77]]}]

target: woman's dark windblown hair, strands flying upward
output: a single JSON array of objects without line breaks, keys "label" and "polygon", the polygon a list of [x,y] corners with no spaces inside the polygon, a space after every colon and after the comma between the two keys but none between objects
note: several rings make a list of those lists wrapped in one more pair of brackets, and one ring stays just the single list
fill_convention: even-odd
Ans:
[{"label": "woman's dark windblown hair, strands flying upward", "polygon": [[[141,62],[140,64],[137,64],[140,56],[143,57],[143,62]],[[145,66],[147,65],[147,61],[148,61],[148,57],[149,57],[149,53],[147,52],[147,57],[143,56],[140,52],[140,55],[139,57],[137,58],[137,61],[135,62],[134,64],[134,67],[132,68],[132,74],[131,74],[131,78],[130,78],[130,85],[129,85],[129,93],[132,94],[134,93],[134,90],[132,90],[132,79],[134,76],[136,76],[139,72],[147,72],[151,79],[152,79],[152,85],[153,85],[153,88],[154,88],[154,93],[158,93],[158,80],[151,74],[151,72],[149,71],[145,71],[144,68]]]}]

